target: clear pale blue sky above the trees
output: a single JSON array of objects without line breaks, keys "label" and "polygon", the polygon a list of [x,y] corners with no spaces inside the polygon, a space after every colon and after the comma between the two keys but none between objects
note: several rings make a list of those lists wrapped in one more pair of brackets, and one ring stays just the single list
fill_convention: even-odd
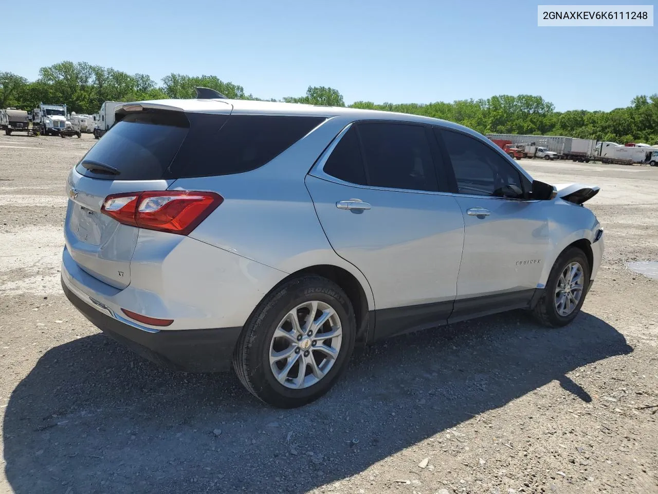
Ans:
[{"label": "clear pale blue sky above the trees", "polygon": [[658,92],[658,24],[539,28],[538,3],[5,0],[1,39],[12,46],[0,49],[0,70],[33,80],[68,59],[157,82],[213,74],[259,97],[309,85],[332,86],[346,103],[534,94],[558,111]]}]

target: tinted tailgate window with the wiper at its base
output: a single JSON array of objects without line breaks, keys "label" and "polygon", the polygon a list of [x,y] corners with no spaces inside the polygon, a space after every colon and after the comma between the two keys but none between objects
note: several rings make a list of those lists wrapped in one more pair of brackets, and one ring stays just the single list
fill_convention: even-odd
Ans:
[{"label": "tinted tailgate window with the wiper at its base", "polygon": [[131,113],[89,150],[82,161],[109,165],[118,175],[99,175],[78,164],[82,175],[108,180],[157,180],[171,163],[188,134],[182,113]]}]

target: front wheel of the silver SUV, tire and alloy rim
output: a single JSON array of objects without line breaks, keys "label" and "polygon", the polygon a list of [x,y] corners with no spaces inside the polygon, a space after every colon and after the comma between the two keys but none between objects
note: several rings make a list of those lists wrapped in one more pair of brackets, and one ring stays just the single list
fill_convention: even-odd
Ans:
[{"label": "front wheel of the silver SUV, tire and alloy rim", "polygon": [[534,307],[533,315],[549,327],[569,324],[580,312],[590,286],[590,264],[577,247],[560,254],[548,277],[544,294]]}]

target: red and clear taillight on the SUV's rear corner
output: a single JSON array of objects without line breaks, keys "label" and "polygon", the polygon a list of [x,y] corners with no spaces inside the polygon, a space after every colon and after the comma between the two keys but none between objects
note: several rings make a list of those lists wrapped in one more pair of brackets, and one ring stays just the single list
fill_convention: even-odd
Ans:
[{"label": "red and clear taillight on the SUV's rear corner", "polygon": [[107,196],[101,212],[124,225],[187,235],[223,201],[215,192],[128,192]]}]

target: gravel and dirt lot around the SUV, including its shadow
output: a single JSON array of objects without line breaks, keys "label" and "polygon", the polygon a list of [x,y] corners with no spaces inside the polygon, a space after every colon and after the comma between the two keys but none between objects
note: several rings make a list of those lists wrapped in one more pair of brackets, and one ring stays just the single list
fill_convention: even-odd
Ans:
[{"label": "gravel and dirt lot around the SUV, including its shadow", "polygon": [[658,169],[522,163],[602,186],[607,250],[569,327],[399,337],[281,411],[232,374],[159,370],[61,294],[64,181],[93,143],[0,136],[1,493],[658,492],[658,281],[626,267],[658,260]]}]

